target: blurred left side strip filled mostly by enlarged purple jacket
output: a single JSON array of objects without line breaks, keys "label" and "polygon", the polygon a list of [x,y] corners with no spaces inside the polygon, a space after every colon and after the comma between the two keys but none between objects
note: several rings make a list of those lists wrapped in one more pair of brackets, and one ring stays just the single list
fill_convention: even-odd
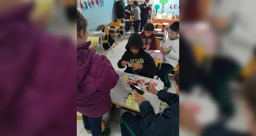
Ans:
[{"label": "blurred left side strip filled mostly by enlarged purple jacket", "polygon": [[0,135],[75,135],[76,3],[0,2]]}]

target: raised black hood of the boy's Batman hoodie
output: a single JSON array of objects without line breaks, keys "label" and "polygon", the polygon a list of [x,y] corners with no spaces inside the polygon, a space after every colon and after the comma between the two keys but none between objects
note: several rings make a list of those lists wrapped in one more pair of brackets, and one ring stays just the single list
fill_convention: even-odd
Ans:
[{"label": "raised black hood of the boy's Batman hoodie", "polygon": [[125,49],[127,51],[131,51],[130,47],[137,47],[143,50],[143,41],[139,33],[135,32],[131,34],[131,36],[129,37],[128,43],[126,44]]}]

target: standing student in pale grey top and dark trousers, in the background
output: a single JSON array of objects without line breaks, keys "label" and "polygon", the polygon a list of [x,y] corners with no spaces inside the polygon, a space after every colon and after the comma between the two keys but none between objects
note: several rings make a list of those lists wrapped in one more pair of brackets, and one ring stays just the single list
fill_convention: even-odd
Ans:
[{"label": "standing student in pale grey top and dark trousers, in the background", "polygon": [[139,33],[139,25],[141,22],[140,18],[140,8],[138,7],[138,2],[134,1],[133,2],[133,10],[132,10],[132,15],[134,15],[134,31]]}]

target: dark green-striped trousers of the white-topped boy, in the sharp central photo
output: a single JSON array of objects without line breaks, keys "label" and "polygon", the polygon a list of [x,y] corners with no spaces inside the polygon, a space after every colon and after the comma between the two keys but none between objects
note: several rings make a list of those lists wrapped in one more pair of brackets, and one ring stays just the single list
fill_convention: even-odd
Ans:
[{"label": "dark green-striped trousers of the white-topped boy, in the sharp central photo", "polygon": [[171,87],[171,83],[168,78],[168,74],[173,70],[173,66],[167,63],[161,65],[161,69],[158,72],[158,76],[166,87]]}]

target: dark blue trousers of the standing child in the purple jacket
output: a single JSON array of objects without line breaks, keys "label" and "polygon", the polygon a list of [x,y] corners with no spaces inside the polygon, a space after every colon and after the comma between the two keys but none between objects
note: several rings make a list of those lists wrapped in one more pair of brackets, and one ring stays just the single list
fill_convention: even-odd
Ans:
[{"label": "dark blue trousers of the standing child in the purple jacket", "polygon": [[101,120],[102,116],[98,118],[91,118],[85,115],[82,115],[84,128],[87,130],[91,130],[92,136],[101,136],[102,128],[101,128]]}]

